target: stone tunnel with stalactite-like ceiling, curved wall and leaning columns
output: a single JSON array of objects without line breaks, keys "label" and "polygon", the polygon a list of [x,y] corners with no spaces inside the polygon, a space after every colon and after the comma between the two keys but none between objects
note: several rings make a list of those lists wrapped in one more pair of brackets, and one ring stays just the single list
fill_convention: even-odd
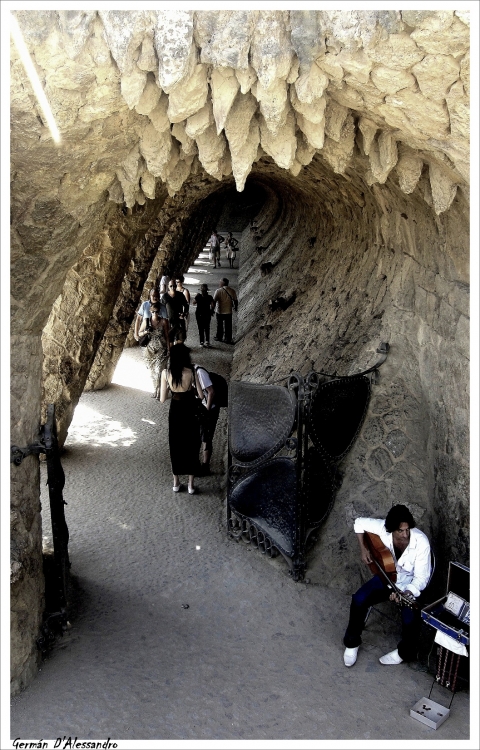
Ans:
[{"label": "stone tunnel with stalactite-like ceiling, curved wall and leaning columns", "polygon": [[[228,216],[232,378],[350,374],[390,344],[314,565],[348,588],[359,514],[406,503],[469,560],[469,12],[17,11],[11,442],[60,443],[142,295]],[[145,298],[145,297],[144,297]],[[275,304],[280,300],[280,304]],[[44,606],[39,459],[11,470],[12,690]]]}]

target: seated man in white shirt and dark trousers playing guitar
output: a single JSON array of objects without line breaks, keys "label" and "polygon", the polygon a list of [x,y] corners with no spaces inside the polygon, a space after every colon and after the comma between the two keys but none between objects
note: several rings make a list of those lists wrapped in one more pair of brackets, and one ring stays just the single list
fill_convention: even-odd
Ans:
[{"label": "seated man in white shirt and dark trousers playing guitar", "polygon": [[[405,505],[394,505],[386,519],[357,518],[354,531],[360,545],[362,562],[373,568],[373,553],[364,540],[364,532],[377,534],[393,556],[397,580],[395,591],[389,589],[383,576],[378,573],[361,586],[352,596],[350,619],[343,639],[345,653],[343,661],[353,667],[362,642],[361,633],[369,607],[387,599],[400,604],[402,609],[402,639],[397,648],[380,658],[381,664],[401,664],[417,658],[417,642],[420,633],[421,614],[416,607],[417,597],[430,579],[430,543],[423,531],[417,529],[412,514]],[[412,606],[407,606],[411,602]]]}]

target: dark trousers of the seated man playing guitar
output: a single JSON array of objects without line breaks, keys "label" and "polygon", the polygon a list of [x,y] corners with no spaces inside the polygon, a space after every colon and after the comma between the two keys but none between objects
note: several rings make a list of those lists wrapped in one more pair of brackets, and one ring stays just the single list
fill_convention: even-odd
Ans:
[{"label": "dark trousers of the seated man playing guitar", "polygon": [[[369,607],[386,601],[390,594],[391,591],[383,585],[380,576],[373,576],[355,592],[350,604],[350,619],[343,638],[346,648],[360,646]],[[392,606],[395,605],[392,604]],[[415,661],[417,658],[421,624],[420,608],[402,607],[402,639],[397,649],[403,661]]]}]

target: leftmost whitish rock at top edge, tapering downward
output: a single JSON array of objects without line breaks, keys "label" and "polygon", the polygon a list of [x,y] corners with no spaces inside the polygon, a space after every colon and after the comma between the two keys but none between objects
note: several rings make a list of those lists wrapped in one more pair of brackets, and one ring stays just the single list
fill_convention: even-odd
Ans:
[{"label": "leftmost whitish rock at top edge, tapering downward", "polygon": [[129,76],[137,70],[138,48],[152,22],[150,11],[99,10],[98,15],[122,77]]}]

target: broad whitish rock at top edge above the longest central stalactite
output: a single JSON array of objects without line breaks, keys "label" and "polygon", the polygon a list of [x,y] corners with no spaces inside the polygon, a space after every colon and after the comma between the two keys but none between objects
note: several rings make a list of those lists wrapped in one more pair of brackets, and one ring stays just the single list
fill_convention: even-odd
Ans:
[{"label": "broad whitish rock at top edge above the longest central stalactite", "polygon": [[197,11],[194,38],[201,50],[200,62],[215,67],[247,70],[248,53],[258,16],[256,10]]}]

